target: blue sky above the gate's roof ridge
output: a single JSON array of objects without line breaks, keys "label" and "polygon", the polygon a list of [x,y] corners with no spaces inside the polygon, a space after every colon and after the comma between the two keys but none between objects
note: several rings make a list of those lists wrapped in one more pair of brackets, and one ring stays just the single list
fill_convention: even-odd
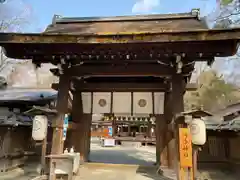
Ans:
[{"label": "blue sky above the gate's roof ridge", "polygon": [[24,31],[43,31],[54,14],[66,17],[121,16],[152,13],[190,12],[200,8],[206,15],[216,7],[216,0],[14,0],[30,10],[30,21]]}]

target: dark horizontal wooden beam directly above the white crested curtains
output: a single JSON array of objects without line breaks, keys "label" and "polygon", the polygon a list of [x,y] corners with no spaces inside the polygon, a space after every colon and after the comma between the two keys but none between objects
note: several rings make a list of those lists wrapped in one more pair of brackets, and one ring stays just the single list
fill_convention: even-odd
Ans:
[{"label": "dark horizontal wooden beam directly above the white crested curtains", "polygon": [[[195,88],[194,88],[195,87]],[[52,88],[58,90],[58,83],[53,83]],[[164,92],[169,89],[168,84],[157,83],[78,83],[71,86],[73,91],[81,92]],[[189,83],[186,85],[187,91],[197,89],[197,84]]]}]

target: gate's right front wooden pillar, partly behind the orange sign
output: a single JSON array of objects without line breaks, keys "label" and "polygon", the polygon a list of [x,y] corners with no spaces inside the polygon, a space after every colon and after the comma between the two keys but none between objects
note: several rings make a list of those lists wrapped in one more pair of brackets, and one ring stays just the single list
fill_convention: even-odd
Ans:
[{"label": "gate's right front wooden pillar, partly behind the orange sign", "polygon": [[[184,126],[184,118],[179,119],[179,115],[184,111],[184,88],[185,82],[181,74],[175,74],[172,77],[172,110],[174,118],[174,139],[175,139],[175,158],[174,165],[177,172],[177,179],[179,180],[180,174],[180,154],[179,154],[179,128]],[[178,122],[176,121],[178,120]]]}]

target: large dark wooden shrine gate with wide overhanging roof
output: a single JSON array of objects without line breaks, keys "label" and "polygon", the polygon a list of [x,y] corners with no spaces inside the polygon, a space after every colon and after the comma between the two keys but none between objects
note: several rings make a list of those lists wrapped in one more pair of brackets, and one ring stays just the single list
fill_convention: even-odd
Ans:
[{"label": "large dark wooden shrine gate with wide overhanging roof", "polygon": [[84,113],[88,102],[82,101],[81,92],[163,92],[162,114],[152,110],[157,159],[161,165],[179,169],[178,130],[184,126],[184,118],[176,119],[184,110],[183,95],[194,64],[206,61],[210,65],[214,57],[234,55],[240,37],[240,29],[209,30],[205,24],[196,10],[170,15],[58,18],[40,34],[0,33],[0,45],[10,58],[32,59],[37,67],[42,63],[57,65],[51,70],[59,76],[59,84],[53,85],[58,90],[58,118],[52,153],[63,152],[62,127],[71,103],[72,120],[77,124],[72,144],[88,160],[93,106]]}]

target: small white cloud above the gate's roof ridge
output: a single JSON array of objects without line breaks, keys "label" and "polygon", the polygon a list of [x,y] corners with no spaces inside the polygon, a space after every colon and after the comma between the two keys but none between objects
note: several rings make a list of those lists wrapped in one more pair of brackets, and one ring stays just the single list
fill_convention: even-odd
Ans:
[{"label": "small white cloud above the gate's roof ridge", "polygon": [[159,0],[138,0],[132,7],[132,13],[147,13],[159,6]]}]

